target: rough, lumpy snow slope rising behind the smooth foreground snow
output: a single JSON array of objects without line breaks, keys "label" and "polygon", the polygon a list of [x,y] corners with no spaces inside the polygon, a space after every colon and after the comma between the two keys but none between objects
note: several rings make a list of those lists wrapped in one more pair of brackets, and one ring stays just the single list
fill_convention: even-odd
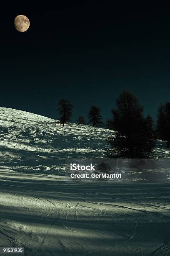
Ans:
[{"label": "rough, lumpy snow slope rising behind the smooth foreground snow", "polygon": [[0,165],[27,172],[62,172],[67,158],[105,156],[114,131],[58,120],[10,108],[0,108]]}]

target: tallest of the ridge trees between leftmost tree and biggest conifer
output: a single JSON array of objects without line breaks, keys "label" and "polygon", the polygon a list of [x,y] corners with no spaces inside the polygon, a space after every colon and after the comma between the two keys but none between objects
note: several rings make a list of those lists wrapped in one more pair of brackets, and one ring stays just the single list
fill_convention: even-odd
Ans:
[{"label": "tallest of the ridge trees between leftmost tree and biggest conifer", "polygon": [[99,127],[103,125],[102,115],[100,114],[100,108],[97,106],[90,107],[88,118],[89,123],[91,123],[93,127]]}]

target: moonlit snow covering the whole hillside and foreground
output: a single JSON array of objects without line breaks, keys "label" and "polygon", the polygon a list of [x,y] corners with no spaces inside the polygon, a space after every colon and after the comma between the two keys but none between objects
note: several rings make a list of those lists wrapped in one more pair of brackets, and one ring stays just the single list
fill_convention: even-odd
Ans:
[{"label": "moonlit snow covering the whole hillside and foreground", "polygon": [[[105,157],[114,131],[9,108],[0,108],[0,125],[0,247],[22,246],[26,256],[170,255],[169,183],[65,182],[65,159]],[[169,157],[157,145],[155,156]]]}]

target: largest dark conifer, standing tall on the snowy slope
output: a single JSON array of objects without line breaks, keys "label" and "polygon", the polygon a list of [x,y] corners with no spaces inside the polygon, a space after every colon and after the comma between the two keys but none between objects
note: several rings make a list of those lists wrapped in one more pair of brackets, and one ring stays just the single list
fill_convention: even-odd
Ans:
[{"label": "largest dark conifer, standing tall on the snowy slope", "polygon": [[[143,106],[132,92],[123,90],[112,110],[115,136],[109,138],[111,157],[148,158],[155,142],[150,138],[148,120],[143,116]],[[150,120],[151,121],[151,120]]]}]

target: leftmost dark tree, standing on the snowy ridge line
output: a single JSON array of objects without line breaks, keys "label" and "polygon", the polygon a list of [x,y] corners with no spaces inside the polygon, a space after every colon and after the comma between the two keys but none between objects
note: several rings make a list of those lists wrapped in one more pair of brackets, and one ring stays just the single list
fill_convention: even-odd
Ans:
[{"label": "leftmost dark tree, standing on the snowy ridge line", "polygon": [[69,122],[72,116],[73,105],[65,99],[59,100],[57,111],[60,114],[60,125],[64,126],[65,123]]}]

